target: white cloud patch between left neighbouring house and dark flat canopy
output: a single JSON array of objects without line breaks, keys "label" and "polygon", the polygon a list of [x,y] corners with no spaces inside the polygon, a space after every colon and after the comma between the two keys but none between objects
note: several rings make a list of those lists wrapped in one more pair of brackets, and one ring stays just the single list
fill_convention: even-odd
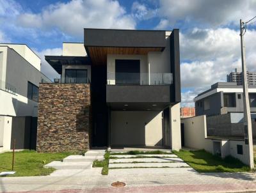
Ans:
[{"label": "white cloud patch between left neighbouring house and dark flat canopy", "polygon": [[49,77],[49,79],[59,78],[60,75],[52,68],[51,65],[49,65],[49,63],[47,63],[47,61],[45,61],[44,56],[60,56],[62,54],[62,49],[44,49],[40,52],[35,52],[41,58],[41,72],[44,73],[47,77]]}]

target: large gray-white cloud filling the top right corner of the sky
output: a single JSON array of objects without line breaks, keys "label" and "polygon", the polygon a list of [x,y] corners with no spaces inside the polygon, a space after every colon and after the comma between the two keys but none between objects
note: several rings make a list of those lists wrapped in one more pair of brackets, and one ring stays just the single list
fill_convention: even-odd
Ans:
[{"label": "large gray-white cloud filling the top right corner of the sky", "polygon": [[211,26],[239,24],[239,19],[250,19],[256,11],[255,0],[160,0],[159,4],[159,15],[172,24],[180,20]]}]

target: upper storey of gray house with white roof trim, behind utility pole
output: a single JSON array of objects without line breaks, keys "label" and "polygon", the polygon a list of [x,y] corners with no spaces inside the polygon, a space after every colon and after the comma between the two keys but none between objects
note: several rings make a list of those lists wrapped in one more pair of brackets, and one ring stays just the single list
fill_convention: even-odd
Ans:
[{"label": "upper storey of gray house with white roof trim, behind utility pole", "polygon": [[[256,112],[256,86],[249,86],[251,112]],[[243,112],[243,86],[236,82],[217,82],[194,99],[196,116]]]}]

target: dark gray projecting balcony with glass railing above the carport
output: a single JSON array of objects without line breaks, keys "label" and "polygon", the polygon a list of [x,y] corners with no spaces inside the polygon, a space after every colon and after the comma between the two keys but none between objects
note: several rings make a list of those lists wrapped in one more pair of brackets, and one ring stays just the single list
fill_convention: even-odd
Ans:
[{"label": "dark gray projecting balcony with glass railing above the carport", "polygon": [[113,110],[161,111],[172,83],[172,73],[108,73],[106,102]]}]

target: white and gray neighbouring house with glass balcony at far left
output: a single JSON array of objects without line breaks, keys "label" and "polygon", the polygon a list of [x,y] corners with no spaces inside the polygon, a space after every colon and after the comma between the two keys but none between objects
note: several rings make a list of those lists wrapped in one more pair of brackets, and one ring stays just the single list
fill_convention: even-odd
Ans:
[{"label": "white and gray neighbouring house with glass balcony at far left", "polygon": [[0,152],[35,149],[40,58],[25,44],[0,43]]}]

